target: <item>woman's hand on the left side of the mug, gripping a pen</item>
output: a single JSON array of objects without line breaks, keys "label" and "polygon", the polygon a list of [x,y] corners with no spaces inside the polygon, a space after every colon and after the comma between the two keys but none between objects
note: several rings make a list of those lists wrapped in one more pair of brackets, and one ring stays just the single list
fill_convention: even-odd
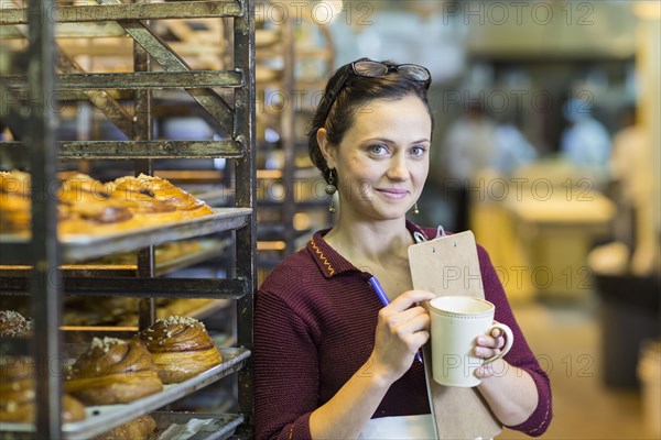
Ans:
[{"label": "woman's hand on the left side of the mug, gripping a pen", "polygon": [[408,290],[379,310],[369,370],[389,382],[409,371],[415,353],[430,339],[430,316],[416,302],[433,298],[426,290]]}]

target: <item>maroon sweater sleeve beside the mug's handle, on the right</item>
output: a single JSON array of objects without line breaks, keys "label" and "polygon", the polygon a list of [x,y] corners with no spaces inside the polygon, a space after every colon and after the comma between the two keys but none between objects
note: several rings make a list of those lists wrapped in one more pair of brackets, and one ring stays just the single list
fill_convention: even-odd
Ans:
[{"label": "maroon sweater sleeve beside the mug's handle, on the right", "polygon": [[530,374],[538,391],[538,406],[532,415],[524,422],[510,426],[508,428],[524,432],[532,437],[544,433],[553,416],[551,405],[551,383],[544,370],[540,366],[534,353],[530,350],[525,337],[523,336],[512,309],[505,295],[502,284],[498,274],[491,264],[487,251],[478,246],[480,272],[485,288],[485,297],[496,306],[495,320],[510,327],[514,336],[514,344],[505,360],[513,366],[517,366]]}]

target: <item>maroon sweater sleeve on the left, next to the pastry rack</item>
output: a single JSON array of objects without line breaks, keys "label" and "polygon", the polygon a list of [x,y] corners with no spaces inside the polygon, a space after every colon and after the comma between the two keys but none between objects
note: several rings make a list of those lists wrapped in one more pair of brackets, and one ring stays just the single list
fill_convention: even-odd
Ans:
[{"label": "maroon sweater sleeve on the left, next to the pastry rack", "polygon": [[301,317],[270,292],[256,296],[253,348],[256,439],[311,439],[317,350]]}]

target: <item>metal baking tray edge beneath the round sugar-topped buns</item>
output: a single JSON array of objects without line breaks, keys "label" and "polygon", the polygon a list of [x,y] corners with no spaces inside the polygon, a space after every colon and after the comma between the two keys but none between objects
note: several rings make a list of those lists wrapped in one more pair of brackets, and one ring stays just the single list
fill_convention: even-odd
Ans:
[{"label": "metal baking tray edge beneath the round sugar-topped buns", "polygon": [[[131,402],[130,404],[90,406],[85,408],[87,418],[72,424],[64,424],[62,426],[62,438],[85,440],[109,431],[119,425],[161,408],[191,393],[204,388],[221,377],[241,370],[246,360],[250,356],[250,350],[247,349],[231,348],[218,350],[224,360],[220,365],[214,366],[185,382],[164,385],[162,392]],[[0,431],[30,432],[34,431],[34,425],[0,424]]]}]

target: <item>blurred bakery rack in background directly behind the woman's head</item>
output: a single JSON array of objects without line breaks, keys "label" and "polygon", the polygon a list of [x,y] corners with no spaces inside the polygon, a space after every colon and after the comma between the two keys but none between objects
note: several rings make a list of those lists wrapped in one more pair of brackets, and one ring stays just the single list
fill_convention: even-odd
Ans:
[{"label": "blurred bakery rack in background directly behind the woman's head", "polygon": [[[292,4],[293,7],[293,4]],[[311,8],[256,3],[258,279],[329,226],[325,182],[307,155],[307,124],[333,73],[330,30]],[[269,139],[270,138],[270,139]]]}]

